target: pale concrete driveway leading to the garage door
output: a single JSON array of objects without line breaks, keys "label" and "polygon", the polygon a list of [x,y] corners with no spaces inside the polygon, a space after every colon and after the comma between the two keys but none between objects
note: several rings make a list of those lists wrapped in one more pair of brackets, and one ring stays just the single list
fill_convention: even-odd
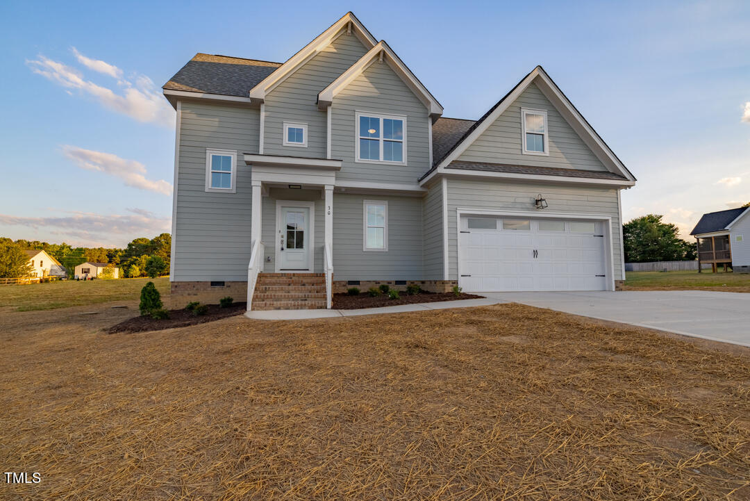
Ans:
[{"label": "pale concrete driveway leading to the garage door", "polygon": [[478,293],[487,298],[750,347],[750,294],[703,290]]}]

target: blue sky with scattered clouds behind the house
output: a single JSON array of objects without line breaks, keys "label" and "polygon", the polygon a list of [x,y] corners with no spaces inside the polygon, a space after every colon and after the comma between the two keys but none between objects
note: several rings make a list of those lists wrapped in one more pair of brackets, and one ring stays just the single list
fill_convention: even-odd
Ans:
[{"label": "blue sky with scattered clouds behind the house", "polygon": [[[478,118],[541,64],[639,182],[625,219],[750,201],[750,2],[4,2],[0,236],[123,246],[169,231],[195,52],[284,62],[347,10]],[[744,117],[744,121],[743,121]]]}]

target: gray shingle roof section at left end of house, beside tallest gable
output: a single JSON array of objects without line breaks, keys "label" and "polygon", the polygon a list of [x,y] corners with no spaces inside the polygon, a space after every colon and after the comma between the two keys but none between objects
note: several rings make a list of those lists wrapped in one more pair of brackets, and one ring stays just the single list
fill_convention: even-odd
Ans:
[{"label": "gray shingle roof section at left end of house, beside tallest gable", "polygon": [[162,89],[248,97],[281,63],[198,52]]}]

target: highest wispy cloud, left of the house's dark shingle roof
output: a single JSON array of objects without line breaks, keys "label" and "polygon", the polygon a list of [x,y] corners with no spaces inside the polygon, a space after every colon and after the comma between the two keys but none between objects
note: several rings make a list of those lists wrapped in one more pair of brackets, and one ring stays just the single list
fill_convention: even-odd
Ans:
[{"label": "highest wispy cloud, left of the house's dark shingle roof", "polygon": [[[84,56],[82,56],[84,57]],[[92,65],[97,65],[99,62],[92,59],[86,58]],[[115,66],[108,65],[105,62],[101,62],[107,65],[108,68],[112,68],[114,74],[120,71]],[[92,66],[84,63],[87,67]],[[130,118],[135,118],[138,121],[153,122],[164,126],[172,127],[175,124],[175,113],[172,107],[166,103],[166,100],[157,92],[156,86],[148,77],[145,75],[139,75],[130,82],[127,80],[122,81],[126,86],[123,93],[117,94],[112,89],[100,86],[93,83],[91,80],[86,80],[80,71],[76,68],[71,68],[62,62],[52,61],[52,59],[46,58],[43,55],[39,55],[37,59],[33,61],[26,61],[26,65],[31,68],[31,71],[39,74],[46,79],[57,83],[66,89],[79,89],[87,95],[95,98],[104,107],[114,110],[117,113],[122,113]],[[100,69],[96,71],[102,71],[103,66],[99,65]],[[96,68],[94,68],[96,69]],[[107,71],[102,71],[107,73]],[[112,73],[108,73],[112,74]]]}]

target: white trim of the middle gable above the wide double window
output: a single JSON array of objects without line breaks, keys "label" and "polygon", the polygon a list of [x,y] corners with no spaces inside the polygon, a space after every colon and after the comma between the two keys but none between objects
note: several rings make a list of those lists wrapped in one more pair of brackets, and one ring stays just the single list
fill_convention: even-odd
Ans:
[{"label": "white trim of the middle gable above the wide double window", "polygon": [[318,94],[318,109],[326,110],[327,107],[331,106],[333,98],[364,73],[365,70],[370,68],[370,66],[376,61],[386,62],[395,74],[407,84],[414,95],[419,98],[419,101],[422,101],[422,104],[425,104],[425,107],[427,107],[431,116],[437,118],[438,116],[443,115],[443,107],[440,106],[437,99],[435,99],[430,91],[422,85],[419,79],[417,79],[410,69],[407,68],[407,65],[404,65],[401,58],[393,52],[393,49],[391,49],[385,40],[380,40],[376,46],[359,58],[359,61],[350,66],[347,71],[344,71],[343,74]]}]

